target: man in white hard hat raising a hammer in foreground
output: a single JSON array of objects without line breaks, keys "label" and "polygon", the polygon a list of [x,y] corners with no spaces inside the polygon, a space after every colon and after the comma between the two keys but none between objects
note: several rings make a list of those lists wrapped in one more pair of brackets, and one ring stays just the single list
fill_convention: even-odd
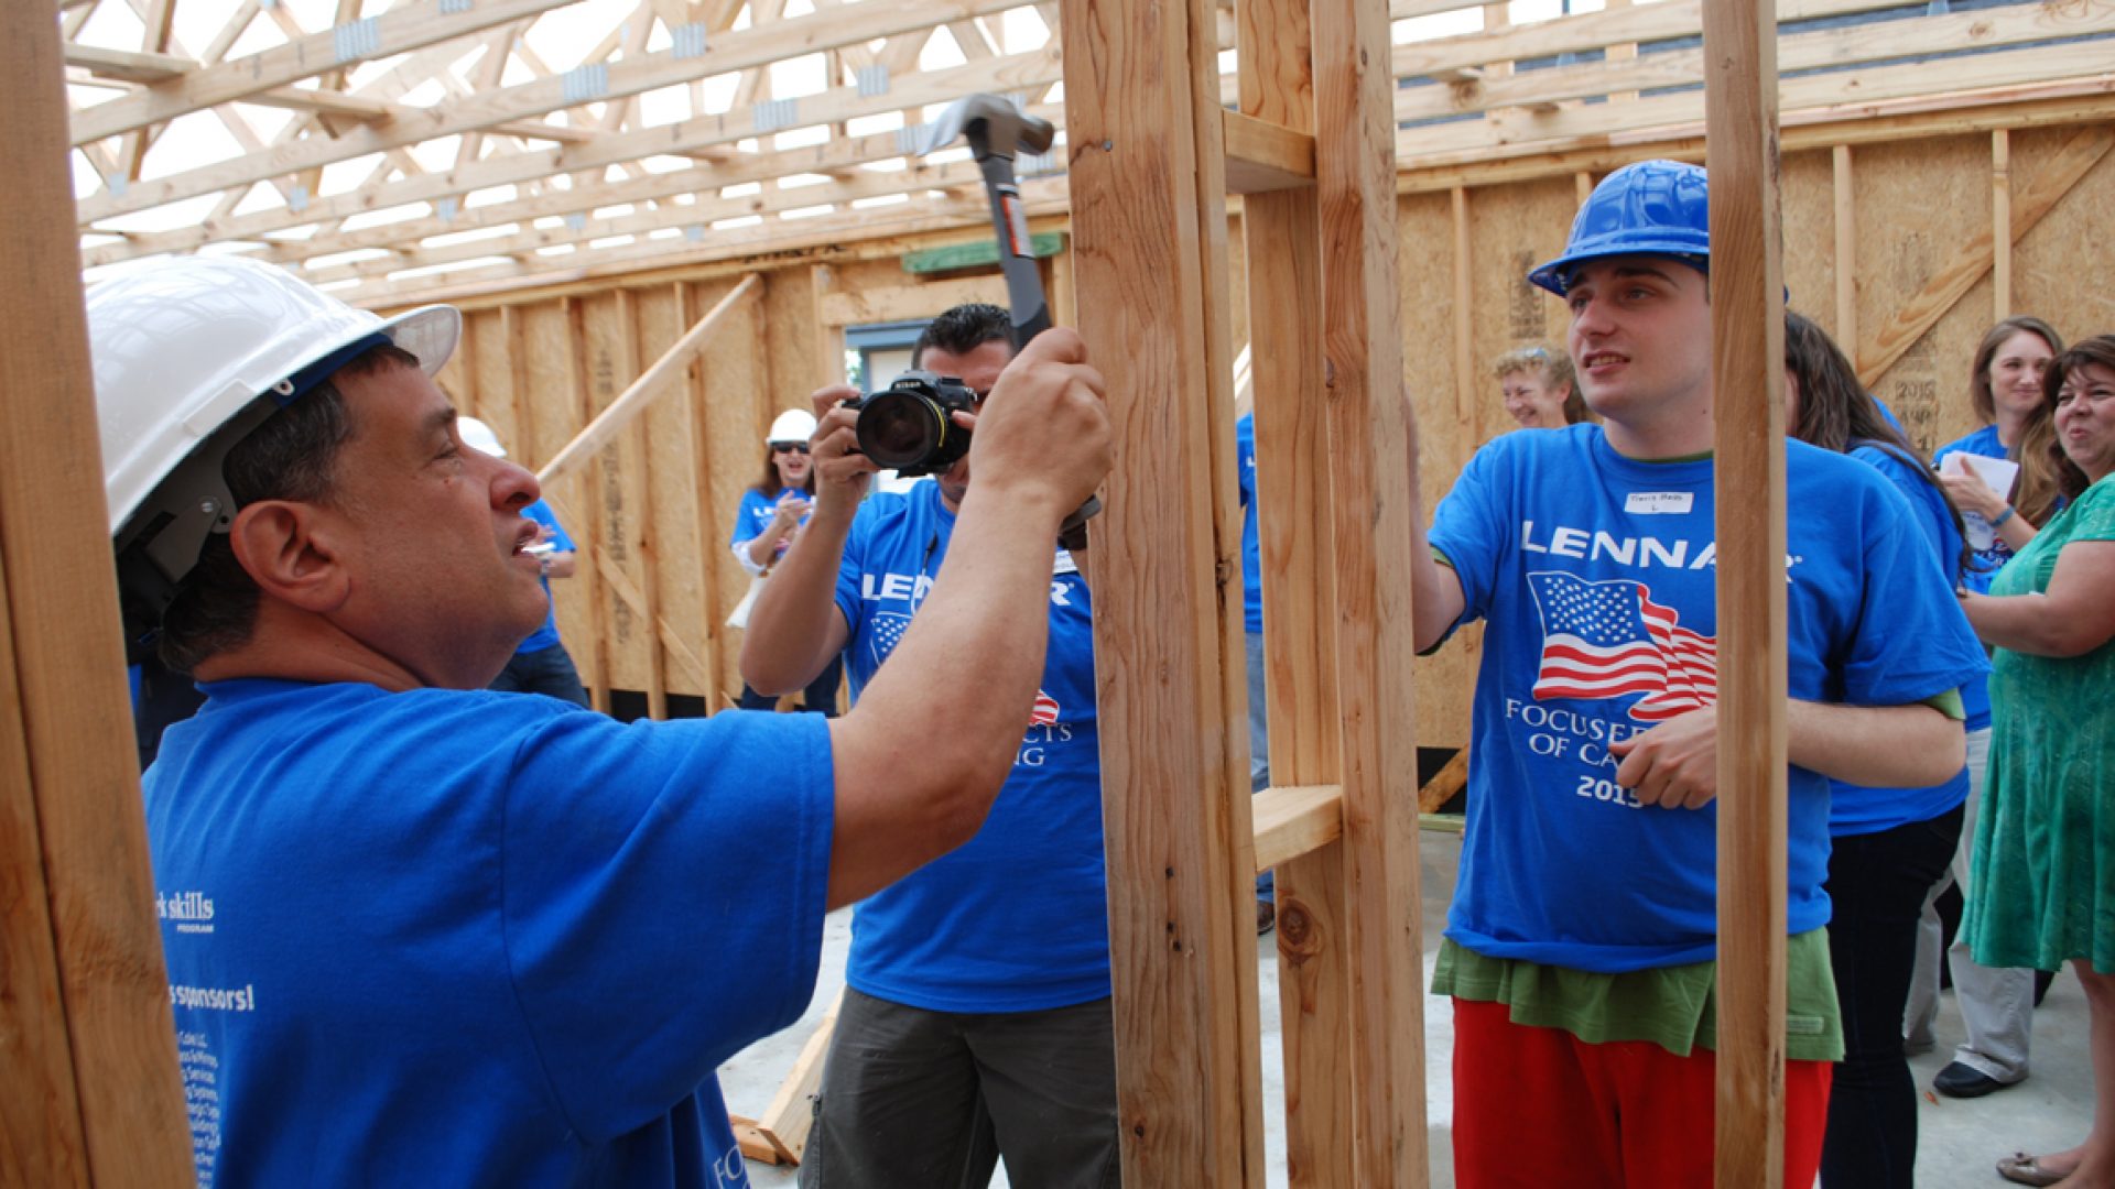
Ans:
[{"label": "man in white hard hat raising a hammer in foreground", "polygon": [[89,326],[127,624],[207,694],[144,779],[201,1183],[744,1185],[715,1066],[1017,751],[1049,539],[1108,470],[1079,339],[998,383],[977,563],[859,711],[624,726],[484,690],[546,614],[537,484],[427,379],[453,309],[195,258]]}]

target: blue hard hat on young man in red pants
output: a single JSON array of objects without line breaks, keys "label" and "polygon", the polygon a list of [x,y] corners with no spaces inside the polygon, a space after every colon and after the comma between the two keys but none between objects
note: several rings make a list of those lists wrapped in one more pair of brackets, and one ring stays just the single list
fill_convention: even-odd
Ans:
[{"label": "blue hard hat on young man in red pants", "polygon": [[1527,279],[1565,296],[1571,273],[1607,256],[1675,256],[1711,271],[1711,216],[1705,171],[1681,161],[1624,165],[1586,197],[1571,220],[1565,254],[1535,267]]}]

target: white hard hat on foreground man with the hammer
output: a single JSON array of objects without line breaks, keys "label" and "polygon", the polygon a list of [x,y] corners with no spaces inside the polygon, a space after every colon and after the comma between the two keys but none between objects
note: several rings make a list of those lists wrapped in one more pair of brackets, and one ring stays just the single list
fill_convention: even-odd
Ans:
[{"label": "white hard hat on foreground man with the hammer", "polygon": [[463,328],[444,305],[385,322],[241,256],[142,264],[91,288],[87,311],[121,582],[154,618],[205,537],[233,523],[220,474],[228,446],[376,336],[434,374]]}]

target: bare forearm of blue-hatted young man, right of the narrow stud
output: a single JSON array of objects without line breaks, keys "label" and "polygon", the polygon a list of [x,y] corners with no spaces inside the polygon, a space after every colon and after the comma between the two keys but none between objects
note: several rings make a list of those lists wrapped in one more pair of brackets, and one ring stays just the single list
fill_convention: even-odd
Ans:
[{"label": "bare forearm of blue-hatted young man, right of the narrow stud", "polygon": [[1933,707],[1842,707],[1794,700],[1785,709],[1787,760],[1851,785],[1923,789],[1961,772],[1967,736]]}]

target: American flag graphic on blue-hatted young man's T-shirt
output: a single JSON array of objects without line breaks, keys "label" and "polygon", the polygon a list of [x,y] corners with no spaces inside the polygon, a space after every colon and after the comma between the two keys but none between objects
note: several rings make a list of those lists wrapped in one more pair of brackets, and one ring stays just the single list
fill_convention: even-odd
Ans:
[{"label": "American flag graphic on blue-hatted young man's T-shirt", "polygon": [[1717,700],[1717,641],[1679,626],[1643,582],[1527,575],[1542,611],[1535,700],[1643,694],[1631,717],[1665,721]]}]

